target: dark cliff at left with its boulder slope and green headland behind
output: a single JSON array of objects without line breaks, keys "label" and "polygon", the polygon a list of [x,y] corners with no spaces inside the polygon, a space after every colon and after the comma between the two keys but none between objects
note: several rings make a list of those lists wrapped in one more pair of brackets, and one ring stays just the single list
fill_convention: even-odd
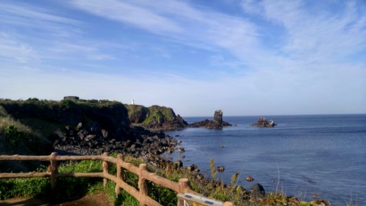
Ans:
[{"label": "dark cliff at left with its boulder slope and green headland behind", "polygon": [[[121,102],[108,100],[0,100],[0,155],[49,155],[56,151],[151,156],[174,151],[175,139],[133,126],[129,117],[147,128],[178,128],[185,123],[171,108],[162,106],[138,106],[136,112],[129,113]],[[0,165],[0,170],[21,166]]]}]

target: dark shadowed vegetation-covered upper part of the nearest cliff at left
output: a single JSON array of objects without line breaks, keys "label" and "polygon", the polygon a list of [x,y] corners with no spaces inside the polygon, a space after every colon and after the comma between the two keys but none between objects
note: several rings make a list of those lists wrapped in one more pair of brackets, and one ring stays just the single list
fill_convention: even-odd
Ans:
[{"label": "dark shadowed vegetation-covered upper part of the nearest cliff at left", "polygon": [[[98,123],[107,130],[130,126],[127,109],[120,102],[97,100],[62,100],[58,102],[33,98],[25,101],[3,100],[0,101],[0,106],[8,115],[20,121],[34,118],[74,128],[80,122],[87,127]],[[32,122],[27,123],[32,124]]]}]

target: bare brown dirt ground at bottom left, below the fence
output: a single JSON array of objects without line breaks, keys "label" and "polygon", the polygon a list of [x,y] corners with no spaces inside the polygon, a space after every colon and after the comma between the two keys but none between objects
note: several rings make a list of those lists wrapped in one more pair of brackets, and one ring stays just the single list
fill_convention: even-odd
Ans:
[{"label": "bare brown dirt ground at bottom left, below the fence", "polygon": [[79,206],[87,206],[87,205],[101,205],[101,206],[113,206],[114,204],[109,201],[108,196],[106,194],[93,194],[84,196],[76,201],[70,201],[65,203],[58,204],[50,204],[45,202],[39,198],[11,198],[5,201],[0,201],[1,206],[10,206],[10,205],[54,205],[54,206],[71,206],[71,205],[79,205]]}]

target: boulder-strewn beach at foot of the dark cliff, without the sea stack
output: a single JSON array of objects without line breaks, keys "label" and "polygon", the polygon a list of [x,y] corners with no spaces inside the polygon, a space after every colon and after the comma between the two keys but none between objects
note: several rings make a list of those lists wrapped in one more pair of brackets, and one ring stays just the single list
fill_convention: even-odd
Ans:
[{"label": "boulder-strewn beach at foot of the dark cliff, without the sea stack", "polygon": [[75,130],[66,126],[63,133],[58,132],[54,150],[60,154],[100,155],[110,152],[141,157],[172,153],[179,144],[164,133],[154,133],[140,126],[133,126],[131,130],[129,137],[116,138],[108,137],[108,132],[100,128]]}]

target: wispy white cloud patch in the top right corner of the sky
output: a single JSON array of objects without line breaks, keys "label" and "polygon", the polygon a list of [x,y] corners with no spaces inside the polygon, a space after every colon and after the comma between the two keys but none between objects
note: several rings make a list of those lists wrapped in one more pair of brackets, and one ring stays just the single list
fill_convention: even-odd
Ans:
[{"label": "wispy white cloud patch in the top right corner of the sky", "polygon": [[285,44],[280,47],[297,62],[321,63],[343,60],[366,47],[365,10],[354,2],[341,2],[343,12],[307,9],[306,1],[242,1],[244,11],[257,14],[283,27]]}]

